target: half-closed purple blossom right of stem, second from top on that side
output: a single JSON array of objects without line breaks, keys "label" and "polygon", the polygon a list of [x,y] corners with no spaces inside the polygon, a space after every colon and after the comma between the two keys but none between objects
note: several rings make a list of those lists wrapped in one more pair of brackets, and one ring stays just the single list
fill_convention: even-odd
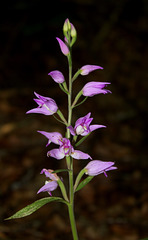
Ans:
[{"label": "half-closed purple blossom right of stem, second from top on that side", "polygon": [[111,93],[110,90],[103,89],[106,85],[110,84],[109,82],[88,82],[82,89],[82,94],[86,97],[92,97],[94,95],[103,93]]}]

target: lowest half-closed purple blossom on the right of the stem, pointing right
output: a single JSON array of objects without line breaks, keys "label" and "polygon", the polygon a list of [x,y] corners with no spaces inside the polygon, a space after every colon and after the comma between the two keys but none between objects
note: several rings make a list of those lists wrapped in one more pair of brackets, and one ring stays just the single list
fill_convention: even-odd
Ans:
[{"label": "lowest half-closed purple blossom on the right of the stem, pointing right", "polygon": [[110,170],[115,170],[117,167],[114,167],[114,162],[103,162],[100,160],[90,161],[85,167],[85,173],[89,176],[96,176],[101,173],[107,177],[106,172]]}]

